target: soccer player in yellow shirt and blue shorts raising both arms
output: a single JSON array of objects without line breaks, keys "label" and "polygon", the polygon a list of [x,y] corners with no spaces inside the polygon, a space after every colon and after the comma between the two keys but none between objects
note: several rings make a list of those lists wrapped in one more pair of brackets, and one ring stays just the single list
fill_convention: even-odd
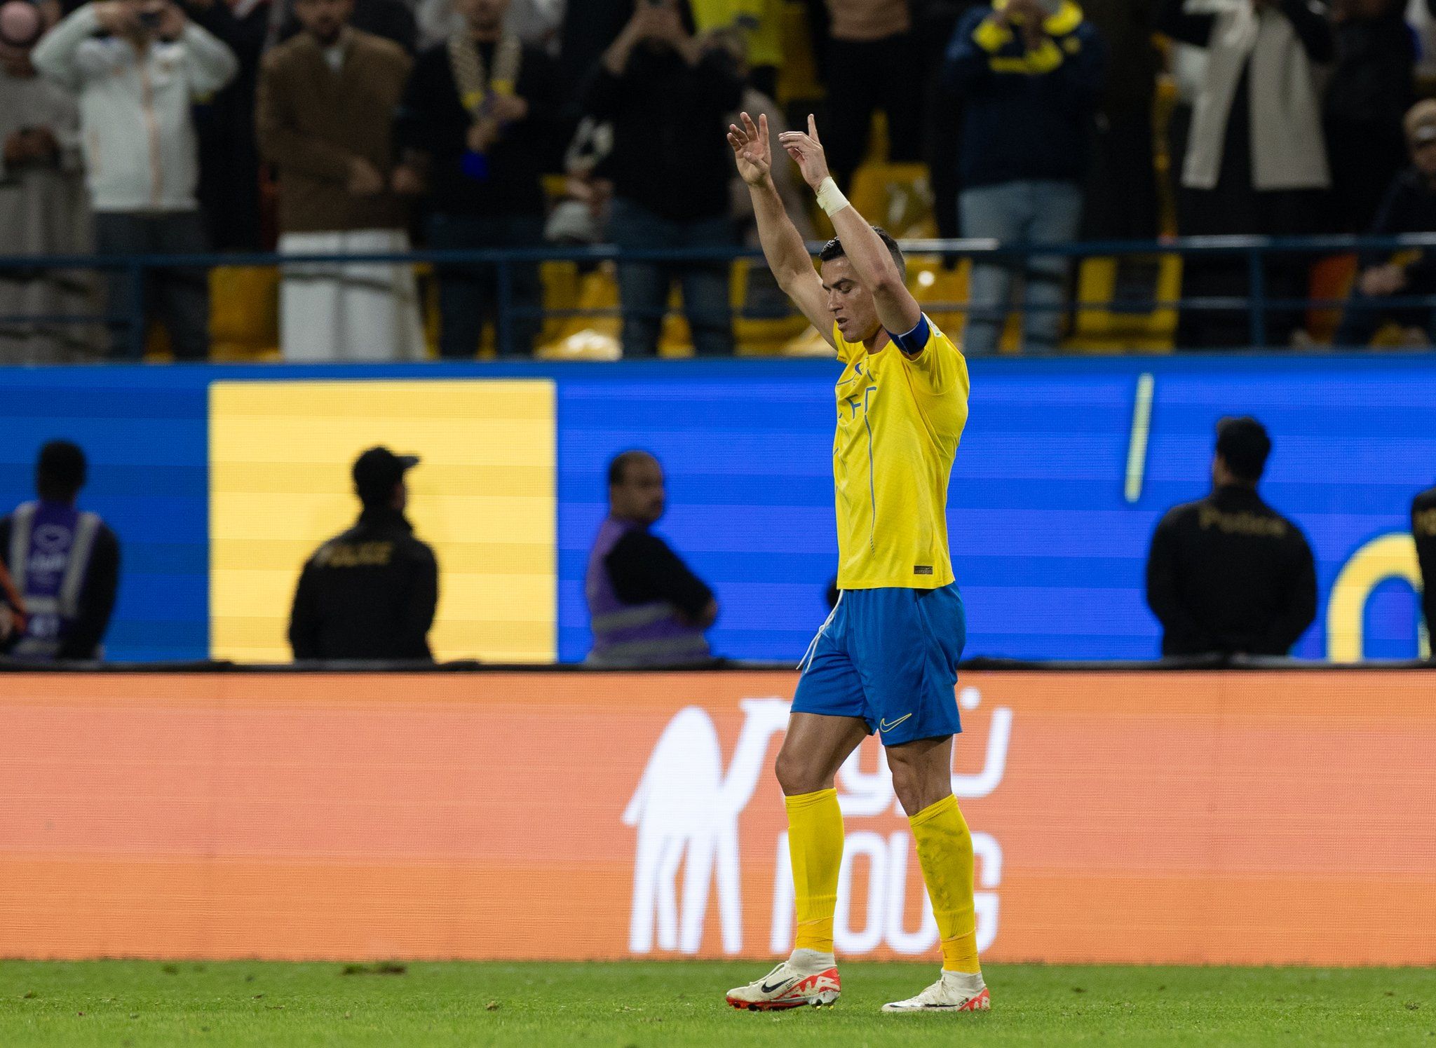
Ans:
[{"label": "soccer player in yellow shirt and blue shorts raising both arms", "polygon": [[833,777],[872,732],[887,748],[942,937],[942,975],[885,1012],[989,1006],[976,953],[972,836],[952,795],[954,696],[966,640],[948,556],[948,477],[968,418],[962,353],[903,284],[898,244],[849,205],[829,177],[817,125],[778,139],[817,191],[837,238],[821,276],[773,188],[768,126],[729,125],[738,174],[752,194],[763,251],[778,284],[837,350],[839,603],[803,659],[778,784],[788,811],[797,900],[793,955],[728,992],[755,1011],[833,1003],[833,910],[843,814]]}]

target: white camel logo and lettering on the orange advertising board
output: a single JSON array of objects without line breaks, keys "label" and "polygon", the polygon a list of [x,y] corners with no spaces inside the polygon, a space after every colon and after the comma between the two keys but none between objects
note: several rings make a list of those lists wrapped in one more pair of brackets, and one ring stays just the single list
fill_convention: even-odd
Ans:
[{"label": "white camel logo and lettering on the orange advertising board", "polygon": [[[982,701],[976,688],[964,688],[959,702],[975,709]],[[724,953],[742,950],[742,883],[738,818],[767,771],[764,759],[774,735],[787,726],[784,699],[744,699],[744,722],[727,774],[712,718],[699,706],[673,715],[659,736],[623,823],[638,827],[633,867],[633,909],[629,920],[629,950],[651,953],[655,948],[696,953],[702,946],[709,890],[717,881],[718,925]],[[1012,738],[1012,711],[992,711],[982,769],[954,775],[958,798],[987,797],[1002,782]],[[938,943],[938,923],[922,892],[920,914],[909,914],[909,854],[912,834],[887,834],[863,828],[863,820],[893,813],[903,815],[892,788],[886,759],[875,771],[860,767],[854,752],[839,769],[837,800],[847,828],[843,866],[839,873],[837,912],[833,937],[839,952],[869,953],[889,946],[896,953],[915,955]],[[987,833],[972,834],[976,861],[975,896],[978,950],[988,949],[998,932],[998,892],[1002,881],[1002,847]],[[854,906],[854,863],[867,869],[866,904]],[[682,867],[682,890],[678,874]],[[853,925],[854,913],[866,914]],[[916,927],[913,927],[916,925]],[[793,871],[788,866],[787,833],[778,836],[774,856],[773,923],[770,948],[787,952],[793,945]]]}]

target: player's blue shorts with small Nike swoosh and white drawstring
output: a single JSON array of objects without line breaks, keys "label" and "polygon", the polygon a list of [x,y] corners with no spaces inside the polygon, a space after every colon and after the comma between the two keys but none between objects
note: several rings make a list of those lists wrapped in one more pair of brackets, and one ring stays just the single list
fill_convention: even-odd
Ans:
[{"label": "player's blue shorts with small Nike swoosh and white drawstring", "polygon": [[966,640],[956,583],[843,590],[803,660],[793,712],[860,716],[885,747],[956,735]]}]

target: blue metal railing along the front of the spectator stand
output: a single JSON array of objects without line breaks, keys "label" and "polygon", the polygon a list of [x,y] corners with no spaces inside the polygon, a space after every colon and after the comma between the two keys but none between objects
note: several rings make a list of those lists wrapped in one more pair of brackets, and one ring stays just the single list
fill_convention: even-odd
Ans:
[{"label": "blue metal railing along the front of the spectator stand", "polygon": [[[820,244],[810,244],[817,251]],[[1064,258],[1091,257],[1142,257],[1180,256],[1245,260],[1246,294],[1242,296],[1182,296],[1178,299],[1133,299],[1122,300],[1123,312],[1152,312],[1178,309],[1196,312],[1245,312],[1246,329],[1252,347],[1267,346],[1268,316],[1274,310],[1337,309],[1347,299],[1275,299],[1268,294],[1267,264],[1272,256],[1302,256],[1310,261],[1318,258],[1360,253],[1363,256],[1396,254],[1400,251],[1436,248],[1436,233],[1403,234],[1394,237],[1180,237],[1160,241],[1071,241],[1063,244],[1002,244],[994,240],[909,240],[903,250],[909,254],[936,254],[945,258],[972,258],[974,261],[1002,260],[1015,264],[1030,257],[1061,256]],[[517,250],[472,250],[472,251],[408,251],[404,254],[182,254],[182,256],[0,256],[0,279],[10,273],[36,273],[47,270],[90,270],[109,274],[123,274],[126,294],[123,303],[109,303],[109,312],[102,314],[57,314],[19,316],[0,314],[0,326],[6,323],[93,324],[105,323],[126,332],[128,355],[138,359],[144,355],[145,342],[145,276],[159,268],[213,268],[213,267],[273,267],[283,264],[313,263],[412,263],[412,264],[482,264],[495,268],[495,334],[498,345],[505,345],[516,317],[544,314],[544,310],[523,307],[513,300],[513,266],[543,261],[573,261],[593,264],[603,261],[661,261],[661,263],[731,263],[737,258],[761,258],[757,248],[718,247],[673,251],[620,251],[616,247],[543,247]],[[13,277],[11,277],[13,279]],[[1369,300],[1373,307],[1409,309],[1425,307],[1436,310],[1436,294],[1386,296]],[[929,309],[943,312],[966,312],[969,303],[925,303]],[[1030,306],[1015,301],[1014,312],[1035,309],[1090,310],[1099,303],[1061,303],[1051,306]],[[572,310],[570,310],[572,312]],[[595,312],[599,313],[599,312]],[[613,310],[607,310],[612,314]]]}]

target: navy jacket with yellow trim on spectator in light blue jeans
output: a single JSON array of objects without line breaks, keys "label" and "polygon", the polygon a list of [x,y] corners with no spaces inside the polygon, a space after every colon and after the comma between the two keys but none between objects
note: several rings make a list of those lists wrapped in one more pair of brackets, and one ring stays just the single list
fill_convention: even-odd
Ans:
[{"label": "navy jacket with yellow trim on spectator in light blue jeans", "polygon": [[948,90],[962,98],[962,185],[1081,181],[1104,66],[1097,30],[1064,3],[1045,22],[1045,45],[1027,52],[1021,34],[989,14],[975,7],[962,16],[943,70]]}]

